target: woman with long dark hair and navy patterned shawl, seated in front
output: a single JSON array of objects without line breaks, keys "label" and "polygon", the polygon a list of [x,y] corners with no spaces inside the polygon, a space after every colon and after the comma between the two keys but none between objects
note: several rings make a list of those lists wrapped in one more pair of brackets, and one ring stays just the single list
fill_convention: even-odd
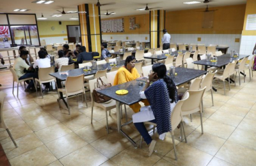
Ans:
[{"label": "woman with long dark hair and navy patterned shawl, seated in front", "polygon": [[[143,99],[147,99],[150,106],[141,107],[140,112],[132,115],[132,121],[138,132],[149,145],[148,156],[151,156],[156,140],[152,140],[143,122],[150,121],[157,124],[159,139],[164,140],[165,133],[172,131],[170,116],[175,104],[178,102],[176,86],[166,75],[166,66],[156,63],[152,66],[153,73],[148,75],[148,80],[140,92]],[[153,82],[150,85],[150,82]]]}]

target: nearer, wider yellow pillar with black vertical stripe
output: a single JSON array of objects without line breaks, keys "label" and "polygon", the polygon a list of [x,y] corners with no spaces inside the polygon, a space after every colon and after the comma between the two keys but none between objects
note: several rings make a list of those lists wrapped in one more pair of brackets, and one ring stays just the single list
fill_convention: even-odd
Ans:
[{"label": "nearer, wider yellow pillar with black vertical stripe", "polygon": [[78,11],[80,11],[79,25],[82,45],[86,47],[88,52],[100,53],[100,43],[102,41],[100,7],[96,4],[80,4]]}]

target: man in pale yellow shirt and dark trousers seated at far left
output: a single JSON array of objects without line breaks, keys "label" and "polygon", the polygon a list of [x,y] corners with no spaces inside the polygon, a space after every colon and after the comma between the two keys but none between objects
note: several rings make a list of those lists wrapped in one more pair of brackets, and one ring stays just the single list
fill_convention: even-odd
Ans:
[{"label": "man in pale yellow shirt and dark trousers seated at far left", "polygon": [[[26,63],[26,59],[28,58],[28,51],[27,50],[21,50],[20,51],[20,57],[15,59],[15,62],[13,64],[13,69],[17,73],[19,80],[27,79],[29,77],[38,78],[37,73],[24,73],[24,69],[31,71],[33,70],[33,66],[29,66]],[[34,82],[30,81],[28,84],[28,87],[26,87],[25,92],[35,92],[35,86]]]}]

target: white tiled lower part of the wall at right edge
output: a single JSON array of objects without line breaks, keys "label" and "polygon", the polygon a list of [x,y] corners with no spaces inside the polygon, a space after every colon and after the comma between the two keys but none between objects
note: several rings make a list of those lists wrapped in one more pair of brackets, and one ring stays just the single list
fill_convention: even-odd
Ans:
[{"label": "white tiled lower part of the wall at right edge", "polygon": [[253,47],[256,43],[256,36],[242,36],[240,54],[252,55]]}]

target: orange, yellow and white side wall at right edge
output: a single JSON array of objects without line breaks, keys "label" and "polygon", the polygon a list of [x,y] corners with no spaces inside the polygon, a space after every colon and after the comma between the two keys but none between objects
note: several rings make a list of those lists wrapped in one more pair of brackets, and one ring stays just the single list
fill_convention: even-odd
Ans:
[{"label": "orange, yellow and white side wall at right edge", "polygon": [[256,31],[246,31],[247,16],[251,14],[256,14],[256,1],[247,0],[246,11],[244,15],[243,33],[240,45],[240,54],[252,55],[253,47],[256,43]]}]

